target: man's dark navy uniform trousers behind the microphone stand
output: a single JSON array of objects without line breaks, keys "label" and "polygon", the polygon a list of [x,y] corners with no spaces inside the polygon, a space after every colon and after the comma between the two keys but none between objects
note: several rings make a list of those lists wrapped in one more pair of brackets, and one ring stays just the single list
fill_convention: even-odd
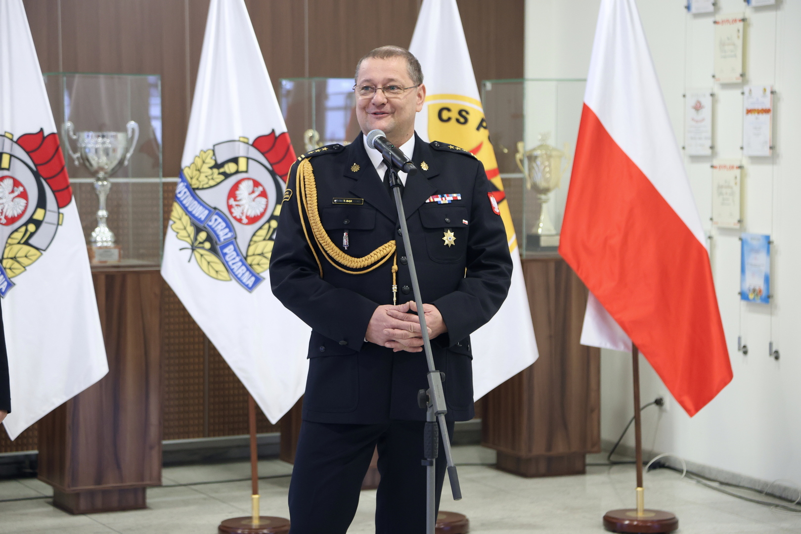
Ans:
[{"label": "man's dark navy uniform trousers behind the microphone stand", "polygon": [[[331,424],[303,421],[289,485],[290,534],[345,534],[378,447],[376,534],[425,533],[423,421]],[[453,436],[453,422],[448,423]],[[440,437],[437,509],[445,478]]]}]

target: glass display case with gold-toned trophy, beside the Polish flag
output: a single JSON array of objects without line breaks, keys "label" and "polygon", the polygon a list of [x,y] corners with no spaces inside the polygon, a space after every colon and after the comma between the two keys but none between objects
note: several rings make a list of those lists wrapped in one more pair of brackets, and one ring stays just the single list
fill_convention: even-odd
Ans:
[{"label": "glass display case with gold-toned trophy, beside the Polish flag", "polygon": [[485,80],[481,99],[521,254],[553,253],[570,186],[584,79]]}]

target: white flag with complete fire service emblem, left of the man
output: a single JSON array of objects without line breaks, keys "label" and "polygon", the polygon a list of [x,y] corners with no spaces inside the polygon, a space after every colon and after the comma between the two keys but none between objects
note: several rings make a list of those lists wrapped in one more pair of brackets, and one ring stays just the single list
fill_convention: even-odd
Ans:
[{"label": "white flag with complete fire service emblem, left of the man", "polygon": [[268,271],[294,162],[244,0],[211,0],[161,273],[272,423],[308,369]]}]

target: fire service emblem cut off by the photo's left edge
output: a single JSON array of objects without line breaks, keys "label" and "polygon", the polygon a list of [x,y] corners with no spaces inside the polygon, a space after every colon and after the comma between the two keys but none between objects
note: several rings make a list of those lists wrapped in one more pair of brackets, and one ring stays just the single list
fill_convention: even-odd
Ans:
[{"label": "fire service emblem cut off by the photo's left edge", "polygon": [[0,136],[0,296],[50,247],[72,199],[58,136]]}]

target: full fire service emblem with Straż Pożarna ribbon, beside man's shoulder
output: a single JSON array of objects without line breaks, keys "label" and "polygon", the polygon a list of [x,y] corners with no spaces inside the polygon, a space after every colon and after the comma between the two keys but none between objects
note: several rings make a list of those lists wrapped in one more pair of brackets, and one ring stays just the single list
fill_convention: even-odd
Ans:
[{"label": "full fire service emblem with Stra\u017c Po\u017carna ribbon, beside man's shoulder", "polygon": [[213,279],[256,289],[270,265],[294,161],[289,135],[272,131],[252,144],[244,137],[217,143],[183,167],[170,220],[190,261]]}]

